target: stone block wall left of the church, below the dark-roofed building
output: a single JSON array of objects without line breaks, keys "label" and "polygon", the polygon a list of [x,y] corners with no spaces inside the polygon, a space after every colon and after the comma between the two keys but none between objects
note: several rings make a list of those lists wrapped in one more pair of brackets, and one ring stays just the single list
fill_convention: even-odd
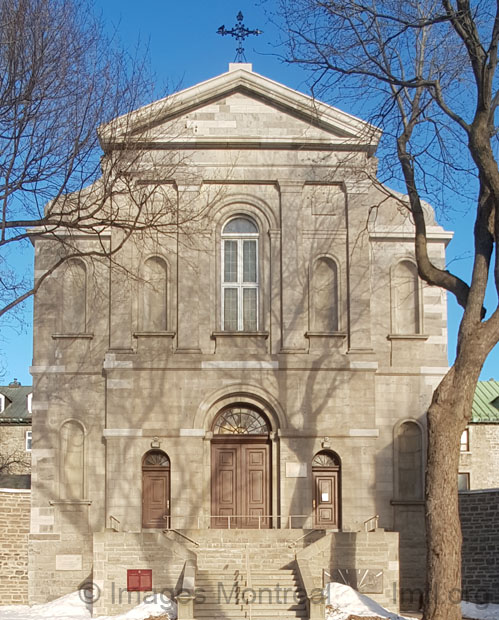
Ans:
[{"label": "stone block wall left of the church, below the dark-roofed building", "polygon": [[0,605],[28,602],[31,493],[0,489]]}]

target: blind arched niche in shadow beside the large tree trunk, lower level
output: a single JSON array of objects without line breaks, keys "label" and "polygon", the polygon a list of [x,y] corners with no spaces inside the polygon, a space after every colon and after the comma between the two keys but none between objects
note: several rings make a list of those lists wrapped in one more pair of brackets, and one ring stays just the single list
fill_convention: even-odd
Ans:
[{"label": "blind arched niche in shadow beside the large tree trunk, lower level", "polygon": [[401,500],[423,499],[423,431],[415,421],[396,429],[396,494]]}]

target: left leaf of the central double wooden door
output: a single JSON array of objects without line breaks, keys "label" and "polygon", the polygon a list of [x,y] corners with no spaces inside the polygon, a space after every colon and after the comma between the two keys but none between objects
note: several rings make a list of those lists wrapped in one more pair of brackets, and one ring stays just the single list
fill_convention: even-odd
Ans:
[{"label": "left leaf of the central double wooden door", "polygon": [[[215,516],[211,527],[227,528],[229,527],[227,517],[241,514],[238,506],[239,447],[238,445],[212,444],[211,514]],[[230,522],[230,527],[236,527],[233,520]]]}]

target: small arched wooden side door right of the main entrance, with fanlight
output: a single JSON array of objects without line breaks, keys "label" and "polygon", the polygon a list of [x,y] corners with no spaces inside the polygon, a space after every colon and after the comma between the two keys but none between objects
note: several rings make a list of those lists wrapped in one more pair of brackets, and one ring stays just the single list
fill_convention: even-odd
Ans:
[{"label": "small arched wooden side door right of the main entrance, with fanlight", "polygon": [[340,458],[335,452],[321,450],[312,461],[314,478],[314,526],[340,529]]}]

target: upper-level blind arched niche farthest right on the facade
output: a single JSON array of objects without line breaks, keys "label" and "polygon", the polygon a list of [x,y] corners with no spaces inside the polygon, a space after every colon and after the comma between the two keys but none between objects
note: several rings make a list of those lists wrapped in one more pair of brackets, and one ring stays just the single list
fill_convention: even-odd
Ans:
[{"label": "upper-level blind arched niche farthest right on the facade", "polygon": [[418,271],[409,260],[400,261],[392,270],[392,330],[395,334],[421,332]]}]

